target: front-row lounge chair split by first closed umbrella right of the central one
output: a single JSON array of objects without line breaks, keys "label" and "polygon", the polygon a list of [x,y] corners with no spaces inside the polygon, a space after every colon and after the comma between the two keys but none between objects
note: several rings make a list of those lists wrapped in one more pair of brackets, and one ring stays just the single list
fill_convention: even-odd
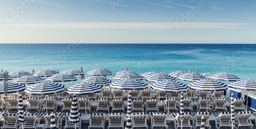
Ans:
[{"label": "front-row lounge chair split by first closed umbrella right of the central one", "polygon": [[[172,113],[174,117],[174,127],[177,129],[178,127],[181,127],[181,120],[180,120],[180,113]],[[182,127],[189,127],[192,128],[193,126],[190,123],[191,113],[184,113],[183,115],[183,121],[182,121]]]}]

